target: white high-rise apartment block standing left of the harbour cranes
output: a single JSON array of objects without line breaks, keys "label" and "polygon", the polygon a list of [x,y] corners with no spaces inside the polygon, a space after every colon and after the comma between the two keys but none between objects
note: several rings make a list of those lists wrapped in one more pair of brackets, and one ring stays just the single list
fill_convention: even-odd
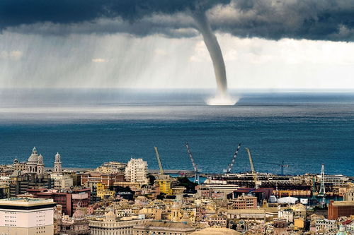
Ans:
[{"label": "white high-rise apartment block standing left of the harbour cranes", "polygon": [[131,158],[125,167],[125,180],[132,183],[148,184],[147,162],[143,159]]}]

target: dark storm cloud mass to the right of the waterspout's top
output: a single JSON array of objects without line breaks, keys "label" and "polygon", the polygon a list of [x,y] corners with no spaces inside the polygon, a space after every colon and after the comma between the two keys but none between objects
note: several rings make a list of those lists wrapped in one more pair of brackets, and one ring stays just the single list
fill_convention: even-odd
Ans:
[{"label": "dark storm cloud mass to the right of the waterspout's top", "polygon": [[217,30],[239,37],[354,40],[353,0],[237,0],[216,15]]}]

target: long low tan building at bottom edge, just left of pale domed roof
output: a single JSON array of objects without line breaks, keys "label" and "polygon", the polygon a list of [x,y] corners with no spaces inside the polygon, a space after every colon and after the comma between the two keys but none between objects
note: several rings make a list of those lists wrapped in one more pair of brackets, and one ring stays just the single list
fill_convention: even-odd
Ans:
[{"label": "long low tan building at bottom edge, just left of pale domed roof", "polygon": [[144,224],[136,225],[133,228],[134,235],[150,235],[150,234],[165,234],[165,235],[185,235],[195,231],[190,225],[169,222],[169,221],[150,221]]}]

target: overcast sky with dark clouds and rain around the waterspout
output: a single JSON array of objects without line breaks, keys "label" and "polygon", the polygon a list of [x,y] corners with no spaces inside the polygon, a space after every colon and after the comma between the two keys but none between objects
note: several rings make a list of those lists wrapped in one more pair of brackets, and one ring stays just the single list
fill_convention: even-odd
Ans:
[{"label": "overcast sky with dark clouds and rain around the waterspout", "polygon": [[[189,5],[144,6],[141,13],[137,1],[132,13],[87,9],[77,17],[74,10],[47,16],[49,10],[38,6],[24,13],[4,2],[10,4],[0,4],[0,88],[216,86]],[[74,8],[70,1],[57,2]],[[350,3],[250,0],[205,6],[229,88],[354,89]]]}]

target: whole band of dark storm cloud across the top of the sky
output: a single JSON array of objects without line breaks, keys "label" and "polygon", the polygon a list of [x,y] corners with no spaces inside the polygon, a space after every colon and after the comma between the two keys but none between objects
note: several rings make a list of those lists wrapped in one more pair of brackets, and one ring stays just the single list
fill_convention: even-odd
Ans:
[{"label": "whole band of dark storm cloud across the top of the sky", "polygon": [[239,37],[354,40],[353,0],[2,0],[0,29],[193,37],[200,5],[214,30]]}]

